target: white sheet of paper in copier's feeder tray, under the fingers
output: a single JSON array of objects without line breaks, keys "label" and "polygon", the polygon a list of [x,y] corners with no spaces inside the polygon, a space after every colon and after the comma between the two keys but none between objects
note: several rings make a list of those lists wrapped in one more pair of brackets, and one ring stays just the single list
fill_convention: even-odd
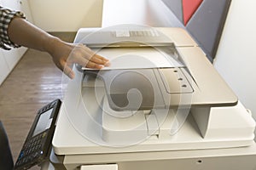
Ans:
[{"label": "white sheet of paper in copier's feeder tray, under the fingers", "polygon": [[[167,47],[166,47],[167,48]],[[159,48],[102,48],[96,54],[109,59],[102,70],[183,67],[173,51]],[[90,70],[83,68],[84,70]]]}]

